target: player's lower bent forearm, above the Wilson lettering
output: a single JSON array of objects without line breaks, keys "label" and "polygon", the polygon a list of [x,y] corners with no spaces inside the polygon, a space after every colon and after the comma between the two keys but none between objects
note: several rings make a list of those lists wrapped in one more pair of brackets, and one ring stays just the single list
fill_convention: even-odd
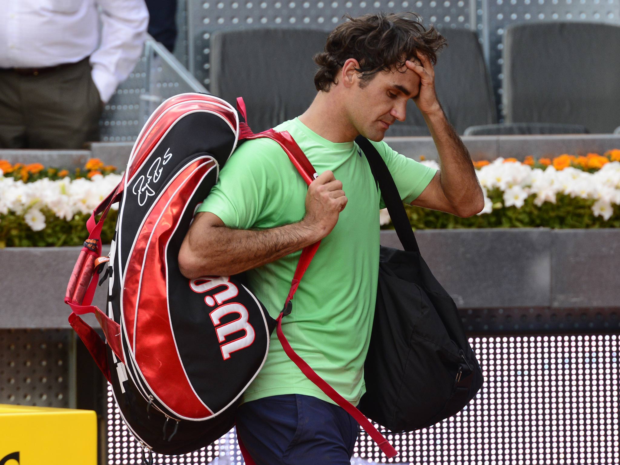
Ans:
[{"label": "player's lower bent forearm, above the Wilson lettering", "polygon": [[192,263],[182,269],[188,278],[229,276],[260,267],[319,240],[317,231],[303,221],[260,231],[217,226],[208,237],[190,229],[188,246]]}]

